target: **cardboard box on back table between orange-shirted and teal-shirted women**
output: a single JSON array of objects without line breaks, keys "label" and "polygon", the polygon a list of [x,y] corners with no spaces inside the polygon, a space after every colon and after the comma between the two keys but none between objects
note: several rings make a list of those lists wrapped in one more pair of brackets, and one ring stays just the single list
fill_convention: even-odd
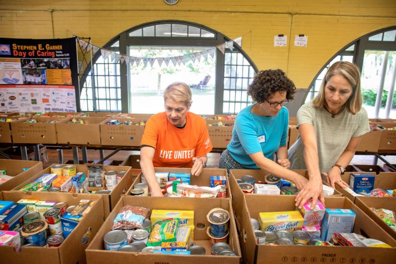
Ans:
[{"label": "cardboard box on back table between orange-shirted and teal-shirted women", "polygon": [[[209,126],[222,122],[223,126]],[[206,120],[207,131],[209,132],[210,141],[212,141],[213,148],[225,149],[231,142],[232,130],[234,126],[224,126],[225,124],[234,124],[234,120]]]}]

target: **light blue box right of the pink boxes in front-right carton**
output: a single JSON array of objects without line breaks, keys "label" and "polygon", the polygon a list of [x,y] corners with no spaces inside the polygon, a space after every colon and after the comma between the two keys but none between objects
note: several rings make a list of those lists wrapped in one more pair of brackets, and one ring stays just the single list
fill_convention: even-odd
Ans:
[{"label": "light blue box right of the pink boxes in front-right carton", "polygon": [[330,241],[334,233],[352,233],[356,214],[350,209],[326,209],[320,239]]}]

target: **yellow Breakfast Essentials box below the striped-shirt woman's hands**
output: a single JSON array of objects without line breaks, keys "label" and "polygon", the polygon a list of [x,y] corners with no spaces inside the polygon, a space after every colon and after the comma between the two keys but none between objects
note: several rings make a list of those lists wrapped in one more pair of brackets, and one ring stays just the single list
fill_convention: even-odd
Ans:
[{"label": "yellow Breakfast Essentials box below the striped-shirt woman's hands", "polygon": [[299,211],[260,212],[258,221],[262,231],[286,230],[293,232],[295,229],[302,228],[304,217]]}]

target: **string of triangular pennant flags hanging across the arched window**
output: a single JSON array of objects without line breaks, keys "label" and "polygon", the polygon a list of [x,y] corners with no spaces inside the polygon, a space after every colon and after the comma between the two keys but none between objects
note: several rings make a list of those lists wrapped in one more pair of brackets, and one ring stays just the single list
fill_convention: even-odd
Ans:
[{"label": "string of triangular pennant flags hanging across the arched window", "polygon": [[231,52],[234,49],[234,43],[238,45],[239,47],[242,47],[242,37],[236,38],[234,40],[227,41],[225,43],[222,43],[220,45],[217,45],[216,47],[209,48],[204,51],[196,52],[196,53],[190,53],[182,56],[174,56],[174,57],[136,57],[136,56],[128,56],[125,54],[118,54],[103,48],[100,48],[98,46],[95,46],[93,44],[90,44],[89,42],[80,39],[77,37],[77,42],[80,46],[80,49],[83,52],[88,52],[91,50],[92,54],[95,54],[99,52],[102,56],[103,59],[107,59],[110,57],[110,59],[113,62],[120,62],[121,64],[127,63],[133,66],[134,64],[139,65],[142,61],[144,66],[147,66],[148,64],[151,65],[151,67],[154,65],[155,61],[158,63],[158,65],[161,67],[163,63],[165,63],[166,66],[169,65],[169,62],[172,62],[174,66],[180,65],[180,64],[186,64],[187,57],[190,57],[190,59],[195,63],[196,61],[200,61],[201,58],[205,58],[207,60],[208,55],[211,56],[212,58],[214,57],[214,53],[216,49],[218,49],[223,55],[225,54],[226,48],[229,49]]}]

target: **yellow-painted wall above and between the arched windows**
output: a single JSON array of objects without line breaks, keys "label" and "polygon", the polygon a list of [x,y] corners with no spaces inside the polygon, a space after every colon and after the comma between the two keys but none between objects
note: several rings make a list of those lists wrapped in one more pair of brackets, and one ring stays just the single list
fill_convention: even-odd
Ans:
[{"label": "yellow-painted wall above and between the arched windows", "polygon": [[[351,41],[396,25],[396,0],[0,0],[0,36],[91,37],[102,46],[119,33],[157,20],[205,25],[233,39],[259,69],[281,68],[308,88],[326,61]],[[275,35],[291,45],[273,47]],[[308,36],[308,47],[294,37]]]}]

